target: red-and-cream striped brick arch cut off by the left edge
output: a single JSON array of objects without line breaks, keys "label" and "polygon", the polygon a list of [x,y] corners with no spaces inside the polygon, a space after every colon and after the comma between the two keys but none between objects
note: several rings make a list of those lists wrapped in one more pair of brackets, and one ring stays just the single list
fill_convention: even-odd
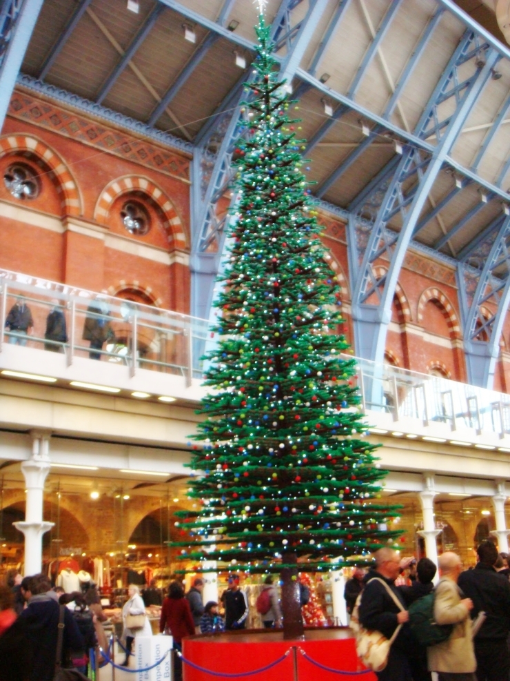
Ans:
[{"label": "red-and-cream striped brick arch cut off by the left edge", "polygon": [[0,158],[12,154],[34,156],[42,170],[50,168],[57,180],[61,207],[67,215],[83,215],[83,201],[76,180],[61,156],[34,135],[5,135],[0,137]]}]

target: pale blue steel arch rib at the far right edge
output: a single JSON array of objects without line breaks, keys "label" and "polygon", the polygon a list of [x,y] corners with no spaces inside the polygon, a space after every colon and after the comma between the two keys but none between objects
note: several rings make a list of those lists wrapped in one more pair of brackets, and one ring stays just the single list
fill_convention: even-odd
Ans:
[{"label": "pale blue steel arch rib at the far right edge", "polygon": [[[510,216],[507,216],[502,221],[489,255],[484,260],[484,267],[480,271],[471,306],[464,319],[464,348],[468,379],[471,384],[482,388],[492,388],[493,385],[502,326],[510,303],[509,241]],[[502,266],[505,270],[504,275],[494,275],[494,270],[501,269]],[[462,268],[459,268],[459,274],[462,276]],[[465,284],[465,277],[462,277],[460,284]],[[496,312],[489,318],[484,317],[481,310],[482,305],[487,302],[490,308],[496,308]],[[466,307],[464,306],[464,309]]]}]

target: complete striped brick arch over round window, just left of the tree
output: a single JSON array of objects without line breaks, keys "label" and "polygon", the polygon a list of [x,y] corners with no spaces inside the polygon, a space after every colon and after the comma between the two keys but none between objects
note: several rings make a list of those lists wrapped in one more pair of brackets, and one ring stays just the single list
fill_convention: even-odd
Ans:
[{"label": "complete striped brick arch over round window, just left of the tree", "polygon": [[105,186],[94,208],[94,219],[101,224],[105,224],[110,214],[110,207],[116,197],[133,191],[142,192],[147,195],[163,213],[163,226],[167,233],[170,248],[187,248],[183,224],[181,218],[177,215],[174,204],[172,204],[172,201],[170,201],[159,186],[142,175],[119,177]]}]

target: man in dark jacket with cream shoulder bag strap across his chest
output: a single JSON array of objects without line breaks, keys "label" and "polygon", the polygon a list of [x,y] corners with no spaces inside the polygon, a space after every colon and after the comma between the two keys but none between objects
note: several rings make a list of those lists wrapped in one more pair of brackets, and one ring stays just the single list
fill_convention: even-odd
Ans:
[{"label": "man in dark jacket with cream shoulder bag strap across his chest", "polygon": [[[391,638],[397,626],[402,624],[391,648],[388,663],[383,671],[377,673],[379,681],[411,681],[409,666],[409,649],[412,645],[409,629],[409,613],[405,610],[405,602],[394,582],[400,574],[400,560],[393,549],[379,549],[375,554],[376,569],[365,576],[366,586],[363,590],[359,606],[359,618],[365,629],[380,631],[386,638]],[[402,610],[381,584],[383,580],[394,593],[396,600],[402,604]]]}]

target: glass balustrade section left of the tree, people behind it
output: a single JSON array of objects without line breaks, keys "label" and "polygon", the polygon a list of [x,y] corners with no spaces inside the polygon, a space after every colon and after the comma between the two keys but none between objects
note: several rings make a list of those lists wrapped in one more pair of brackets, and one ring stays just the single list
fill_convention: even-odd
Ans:
[{"label": "glass balustrade section left of the tree, people behind it", "polygon": [[[201,378],[208,322],[129,299],[0,270],[3,343]],[[16,304],[30,310],[20,315]],[[11,312],[12,310],[12,312]],[[19,310],[19,308],[18,308]],[[13,324],[7,325],[11,320]],[[33,325],[28,334],[19,326]],[[18,327],[18,328],[17,328]]]}]

